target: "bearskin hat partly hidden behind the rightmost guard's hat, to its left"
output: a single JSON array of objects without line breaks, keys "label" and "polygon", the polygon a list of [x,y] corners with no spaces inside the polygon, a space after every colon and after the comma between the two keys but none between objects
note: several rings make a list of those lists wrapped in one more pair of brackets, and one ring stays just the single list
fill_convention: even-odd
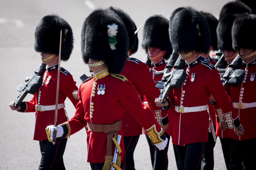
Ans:
[{"label": "bearskin hat partly hidden behind the rightmost guard's hat, to its left", "polygon": [[232,47],[231,29],[237,14],[223,17],[217,27],[218,47],[220,50],[234,50]]}]

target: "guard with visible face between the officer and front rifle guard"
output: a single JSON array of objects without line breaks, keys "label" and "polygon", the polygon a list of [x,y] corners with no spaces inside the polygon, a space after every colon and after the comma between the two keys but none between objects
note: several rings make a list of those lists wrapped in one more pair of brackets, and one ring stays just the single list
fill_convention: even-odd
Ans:
[{"label": "guard with visible face between the officer and front rifle guard", "polygon": [[[145,24],[144,24],[144,30],[142,35],[142,48],[147,53],[147,57],[145,58],[144,62],[149,66],[149,68],[152,69],[152,77],[151,79],[156,81],[161,81],[162,75],[156,76],[156,71],[162,71],[166,67],[165,60],[168,60],[170,58],[170,55],[172,54],[172,47],[171,42],[169,38],[169,21],[168,19],[162,17],[161,15],[154,15],[149,17]],[[159,89],[158,93],[160,94]],[[159,96],[158,94],[158,96]],[[158,96],[155,96],[157,98]],[[149,99],[148,97],[144,96],[144,102],[148,103]],[[155,101],[155,100],[154,100]],[[161,111],[158,111],[161,112]],[[158,117],[158,116],[157,116]],[[160,125],[163,124],[165,119],[168,123],[168,117],[167,115],[163,117],[163,115],[160,116],[162,119],[161,122],[159,122]],[[166,124],[167,127],[169,124]],[[165,131],[165,135],[170,140],[170,135],[168,135],[167,131]],[[151,141],[149,140],[148,136],[146,135],[148,144],[149,144],[149,150],[150,150],[150,156],[151,156],[151,163],[153,169],[167,169],[168,168],[168,146],[164,150],[158,150],[155,146],[151,144]]]}]

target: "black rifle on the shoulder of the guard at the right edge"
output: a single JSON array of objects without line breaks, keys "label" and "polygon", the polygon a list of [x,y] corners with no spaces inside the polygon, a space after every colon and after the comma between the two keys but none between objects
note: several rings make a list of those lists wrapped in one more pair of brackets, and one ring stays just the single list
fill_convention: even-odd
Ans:
[{"label": "black rifle on the shoulder of the guard at the right edge", "polygon": [[232,61],[232,63],[230,63],[226,69],[217,68],[219,73],[224,72],[224,75],[221,77],[221,82],[224,87],[227,86],[230,76],[233,74],[233,72],[236,69],[239,69],[241,65],[242,65],[242,59],[240,55],[237,55],[235,59]]}]

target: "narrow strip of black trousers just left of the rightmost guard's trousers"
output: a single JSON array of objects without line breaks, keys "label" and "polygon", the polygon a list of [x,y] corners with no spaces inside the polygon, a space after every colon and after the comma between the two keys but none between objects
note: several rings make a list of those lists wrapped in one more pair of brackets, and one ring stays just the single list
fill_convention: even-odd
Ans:
[{"label": "narrow strip of black trousers just left of the rightmost guard's trousers", "polygon": [[230,162],[230,152],[231,152],[231,143],[230,143],[230,138],[221,138],[220,139],[220,144],[224,156],[224,161],[226,164],[226,168],[229,169],[229,162]]}]

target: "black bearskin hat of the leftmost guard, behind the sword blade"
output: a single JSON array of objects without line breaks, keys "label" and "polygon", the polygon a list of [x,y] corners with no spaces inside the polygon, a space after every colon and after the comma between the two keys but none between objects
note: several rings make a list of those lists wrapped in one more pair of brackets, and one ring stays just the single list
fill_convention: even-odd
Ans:
[{"label": "black bearskin hat of the leftmost guard, behind the sword blade", "polygon": [[58,15],[47,15],[37,25],[35,51],[59,54],[60,30],[62,30],[60,59],[67,61],[73,50],[73,32],[69,24]]}]

